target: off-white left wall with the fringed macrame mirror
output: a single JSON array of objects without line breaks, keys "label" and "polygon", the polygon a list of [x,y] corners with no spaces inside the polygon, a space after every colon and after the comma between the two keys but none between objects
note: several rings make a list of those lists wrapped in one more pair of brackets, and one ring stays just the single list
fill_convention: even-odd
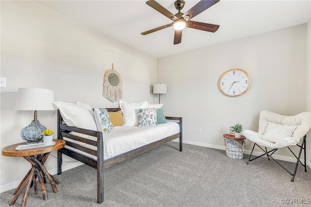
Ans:
[{"label": "off-white left wall with the fringed macrame mirror", "polygon": [[[156,83],[155,58],[34,1],[0,3],[1,77],[7,80],[7,87],[1,88],[1,150],[22,142],[20,131],[34,117],[33,111],[14,110],[19,87],[52,89],[58,101],[118,107],[102,96],[104,71],[114,63],[123,81],[122,100],[157,101],[150,92]],[[55,111],[38,111],[38,120],[56,131]],[[56,164],[50,156],[47,170],[56,173]],[[76,165],[64,162],[64,169]],[[17,187],[30,167],[22,157],[1,155],[0,191]]]}]

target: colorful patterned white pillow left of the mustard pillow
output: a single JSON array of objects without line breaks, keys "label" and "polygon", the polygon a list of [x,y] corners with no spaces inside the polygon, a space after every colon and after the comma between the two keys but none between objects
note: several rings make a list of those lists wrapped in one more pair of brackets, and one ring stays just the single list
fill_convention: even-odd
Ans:
[{"label": "colorful patterned white pillow left of the mustard pillow", "polygon": [[94,115],[98,131],[102,132],[103,135],[113,129],[108,111],[105,108],[94,108]]}]

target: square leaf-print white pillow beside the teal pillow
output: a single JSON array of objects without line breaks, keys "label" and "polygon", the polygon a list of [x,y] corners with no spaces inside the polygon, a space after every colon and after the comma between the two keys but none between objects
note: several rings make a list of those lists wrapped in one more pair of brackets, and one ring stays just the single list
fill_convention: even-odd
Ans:
[{"label": "square leaf-print white pillow beside the teal pillow", "polygon": [[157,125],[155,108],[138,108],[137,118],[139,127]]}]

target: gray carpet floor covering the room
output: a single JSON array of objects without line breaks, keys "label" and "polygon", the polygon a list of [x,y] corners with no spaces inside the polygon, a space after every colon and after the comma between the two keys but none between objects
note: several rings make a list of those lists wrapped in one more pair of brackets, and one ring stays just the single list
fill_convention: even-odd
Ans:
[{"label": "gray carpet floor covering the room", "polygon": [[[291,175],[266,157],[246,165],[225,151],[169,142],[105,171],[104,203],[96,201],[96,170],[82,165],[55,177],[58,193],[46,184],[47,201],[30,190],[28,207],[278,207],[311,206],[311,170]],[[294,163],[280,161],[294,170]],[[0,194],[1,207],[13,198]],[[14,206],[20,206],[21,197]],[[285,204],[283,204],[285,203]]]}]

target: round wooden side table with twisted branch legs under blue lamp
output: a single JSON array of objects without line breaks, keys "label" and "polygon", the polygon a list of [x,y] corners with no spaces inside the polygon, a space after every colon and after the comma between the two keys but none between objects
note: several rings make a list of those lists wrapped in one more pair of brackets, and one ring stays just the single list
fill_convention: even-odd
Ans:
[{"label": "round wooden side table with twisted branch legs under blue lamp", "polygon": [[[19,145],[24,145],[26,142],[14,144],[2,149],[2,155],[4,156],[22,156],[24,157],[30,164],[32,164],[32,168],[28,171],[25,177],[22,179],[17,189],[14,192],[14,197],[10,203],[10,206],[14,205],[17,200],[20,192],[24,190],[24,196],[21,200],[21,207],[25,207],[27,196],[29,193],[29,189],[34,186],[35,194],[38,194],[37,186],[35,183],[36,177],[38,177],[39,184],[42,191],[43,200],[48,199],[47,191],[45,189],[44,183],[46,183],[46,178],[50,181],[53,192],[57,192],[56,184],[59,184],[59,181],[53,177],[44,167],[45,161],[48,159],[50,153],[54,150],[59,150],[63,148],[66,144],[64,140],[61,139],[53,139],[55,141],[55,145],[47,146],[43,148],[35,148],[28,150],[17,151],[15,148]],[[35,156],[36,155],[36,156]]]}]

